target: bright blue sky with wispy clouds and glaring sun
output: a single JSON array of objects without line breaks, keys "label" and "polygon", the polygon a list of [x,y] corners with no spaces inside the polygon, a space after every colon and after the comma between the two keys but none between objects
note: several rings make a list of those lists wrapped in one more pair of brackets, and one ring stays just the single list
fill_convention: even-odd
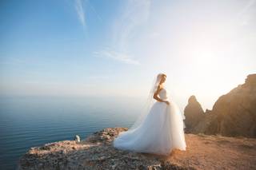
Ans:
[{"label": "bright blue sky with wispy clouds and glaring sun", "polygon": [[256,73],[256,0],[2,0],[0,96],[170,98],[211,109]]}]

